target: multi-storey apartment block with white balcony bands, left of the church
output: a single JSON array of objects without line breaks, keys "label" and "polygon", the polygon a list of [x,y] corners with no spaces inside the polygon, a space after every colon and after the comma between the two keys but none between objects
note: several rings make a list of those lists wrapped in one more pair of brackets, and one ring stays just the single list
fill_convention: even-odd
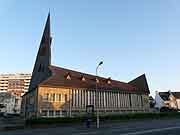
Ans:
[{"label": "multi-storey apartment block with white balcony bands, left of the church", "polygon": [[31,74],[0,74],[0,92],[22,96],[28,91],[30,80]]}]

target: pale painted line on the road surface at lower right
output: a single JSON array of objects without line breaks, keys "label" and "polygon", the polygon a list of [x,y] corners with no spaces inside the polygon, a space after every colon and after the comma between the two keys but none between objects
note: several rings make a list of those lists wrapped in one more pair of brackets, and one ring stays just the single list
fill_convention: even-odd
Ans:
[{"label": "pale painted line on the road surface at lower right", "polygon": [[137,131],[137,132],[131,132],[131,133],[124,133],[121,135],[140,135],[140,134],[146,134],[146,133],[152,133],[152,132],[160,132],[160,131],[166,131],[166,130],[172,130],[172,129],[178,129],[180,127],[168,127],[168,128],[160,128],[160,129],[150,129],[145,131]]}]

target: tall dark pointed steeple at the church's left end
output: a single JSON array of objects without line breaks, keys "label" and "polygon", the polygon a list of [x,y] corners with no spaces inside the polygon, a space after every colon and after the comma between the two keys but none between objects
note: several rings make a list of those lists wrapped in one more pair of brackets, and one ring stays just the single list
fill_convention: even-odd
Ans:
[{"label": "tall dark pointed steeple at the church's left end", "polygon": [[51,29],[50,29],[50,12],[48,14],[43,35],[41,38],[38,54],[34,64],[32,78],[29,90],[33,90],[42,81],[47,79],[51,72],[49,66],[51,65]]}]

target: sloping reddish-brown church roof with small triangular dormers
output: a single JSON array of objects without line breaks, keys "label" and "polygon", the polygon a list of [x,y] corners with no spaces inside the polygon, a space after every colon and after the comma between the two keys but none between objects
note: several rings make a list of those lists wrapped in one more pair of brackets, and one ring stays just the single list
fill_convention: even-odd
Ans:
[{"label": "sloping reddish-brown church roof with small triangular dormers", "polygon": [[[70,88],[96,88],[96,76],[90,75],[78,71],[73,71],[61,67],[50,66],[52,71],[52,76],[47,80],[43,81],[41,86],[59,86],[59,87],[70,87]],[[67,79],[68,76],[68,79]],[[70,77],[70,78],[69,78]],[[82,81],[84,77],[84,81]],[[107,83],[110,80],[110,83]],[[110,78],[98,77],[98,89],[118,89],[131,92],[142,92],[139,91],[137,87]],[[146,92],[146,91],[144,91]]]}]

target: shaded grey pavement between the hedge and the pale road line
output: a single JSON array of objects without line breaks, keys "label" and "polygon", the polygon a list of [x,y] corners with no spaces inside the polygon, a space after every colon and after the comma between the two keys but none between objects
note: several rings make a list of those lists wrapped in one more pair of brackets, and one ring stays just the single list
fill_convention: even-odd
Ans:
[{"label": "shaded grey pavement between the hedge and the pale road line", "polygon": [[61,126],[49,125],[48,127],[25,128],[17,130],[4,130],[0,132],[2,135],[87,135],[87,134],[125,134],[129,132],[138,132],[151,129],[160,129],[174,127],[180,125],[180,119],[158,119],[158,120],[138,120],[126,122],[109,122],[100,123],[100,128],[97,129],[94,124],[91,128],[86,128],[84,124],[66,124]]}]

